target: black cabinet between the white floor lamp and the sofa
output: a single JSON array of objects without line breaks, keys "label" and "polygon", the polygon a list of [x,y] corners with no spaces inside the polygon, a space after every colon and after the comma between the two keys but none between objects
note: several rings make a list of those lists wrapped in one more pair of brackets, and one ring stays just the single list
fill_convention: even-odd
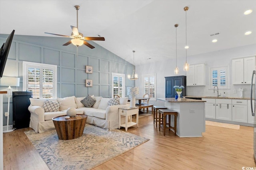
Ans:
[{"label": "black cabinet between the white floor lamp and the sofa", "polygon": [[14,129],[29,127],[30,112],[28,111],[28,106],[30,105],[29,98],[32,98],[32,96],[32,92],[12,92],[12,119]]}]

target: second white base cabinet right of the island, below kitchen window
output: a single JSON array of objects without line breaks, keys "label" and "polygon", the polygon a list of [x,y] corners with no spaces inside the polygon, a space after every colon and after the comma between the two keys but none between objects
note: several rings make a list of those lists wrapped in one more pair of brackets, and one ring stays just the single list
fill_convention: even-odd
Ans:
[{"label": "second white base cabinet right of the island, below kitchen window", "polygon": [[216,119],[232,121],[231,99],[216,99]]}]

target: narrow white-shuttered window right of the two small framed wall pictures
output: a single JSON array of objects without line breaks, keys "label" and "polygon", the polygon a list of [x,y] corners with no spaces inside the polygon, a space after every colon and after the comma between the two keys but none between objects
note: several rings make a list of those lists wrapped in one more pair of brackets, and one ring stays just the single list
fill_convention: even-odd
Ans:
[{"label": "narrow white-shuttered window right of the two small framed wall pictures", "polygon": [[112,97],[114,95],[125,97],[125,74],[112,72]]}]

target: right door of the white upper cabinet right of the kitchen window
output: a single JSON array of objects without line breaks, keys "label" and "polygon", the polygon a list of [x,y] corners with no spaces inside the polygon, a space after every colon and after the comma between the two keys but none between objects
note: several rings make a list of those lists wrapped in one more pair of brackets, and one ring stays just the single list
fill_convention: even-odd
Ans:
[{"label": "right door of the white upper cabinet right of the kitchen window", "polygon": [[255,57],[245,58],[244,59],[244,84],[251,84],[253,70],[255,70]]}]

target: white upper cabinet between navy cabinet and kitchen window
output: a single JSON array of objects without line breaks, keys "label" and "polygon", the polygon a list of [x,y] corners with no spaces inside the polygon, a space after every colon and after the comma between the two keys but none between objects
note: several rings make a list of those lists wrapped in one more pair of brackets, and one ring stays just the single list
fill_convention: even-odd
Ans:
[{"label": "white upper cabinet between navy cabinet and kitchen window", "polygon": [[205,64],[190,64],[187,86],[205,86]]}]

